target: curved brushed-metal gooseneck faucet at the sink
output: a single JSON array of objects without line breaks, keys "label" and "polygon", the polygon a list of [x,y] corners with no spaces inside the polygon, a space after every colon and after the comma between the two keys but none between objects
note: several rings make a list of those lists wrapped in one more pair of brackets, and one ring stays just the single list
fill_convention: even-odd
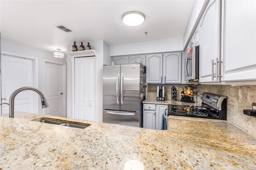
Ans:
[{"label": "curved brushed-metal gooseneck faucet at the sink", "polygon": [[10,96],[10,100],[9,100],[9,117],[12,117],[14,118],[14,98],[15,96],[20,93],[21,91],[24,91],[24,90],[32,90],[32,91],[35,91],[36,93],[38,93],[41,97],[41,101],[42,101],[42,108],[46,108],[46,107],[49,107],[47,101],[46,101],[46,98],[44,97],[44,94],[39,90],[39,89],[36,89],[34,87],[22,87],[20,89],[17,89],[16,91],[14,91],[12,93],[12,95]]}]

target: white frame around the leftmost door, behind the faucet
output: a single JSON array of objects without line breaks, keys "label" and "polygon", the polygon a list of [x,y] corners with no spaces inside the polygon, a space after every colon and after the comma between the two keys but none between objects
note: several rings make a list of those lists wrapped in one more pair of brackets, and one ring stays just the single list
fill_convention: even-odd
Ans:
[{"label": "white frame around the leftmost door, behind the faucet", "polygon": [[[2,58],[2,55],[10,55],[12,57],[18,57],[18,58],[25,58],[25,59],[31,59],[33,61],[33,87],[38,88],[38,58],[36,57],[31,57],[28,55],[22,55],[18,53],[12,53],[8,51],[1,51],[0,58]],[[2,66],[2,60],[0,59],[0,67]],[[2,67],[1,67],[2,69]],[[0,83],[1,83],[1,102],[2,102],[2,77],[0,76]],[[37,99],[37,94],[33,93],[34,99]],[[38,113],[38,103],[39,101],[36,101],[34,103],[34,113]],[[2,107],[1,107],[1,114],[2,114]]]}]

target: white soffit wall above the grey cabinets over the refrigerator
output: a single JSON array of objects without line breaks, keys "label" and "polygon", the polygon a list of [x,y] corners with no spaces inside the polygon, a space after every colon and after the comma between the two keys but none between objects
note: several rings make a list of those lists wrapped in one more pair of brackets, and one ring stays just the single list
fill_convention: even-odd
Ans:
[{"label": "white soffit wall above the grey cabinets over the refrigerator", "polygon": [[110,56],[183,51],[183,38],[110,45]]}]

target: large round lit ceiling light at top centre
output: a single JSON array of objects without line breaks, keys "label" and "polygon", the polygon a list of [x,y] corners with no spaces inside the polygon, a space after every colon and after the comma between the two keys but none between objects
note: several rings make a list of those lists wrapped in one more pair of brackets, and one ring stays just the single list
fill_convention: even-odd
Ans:
[{"label": "large round lit ceiling light at top centre", "polygon": [[122,16],[124,24],[128,26],[139,26],[144,22],[145,18],[145,15],[138,11],[126,12]]}]

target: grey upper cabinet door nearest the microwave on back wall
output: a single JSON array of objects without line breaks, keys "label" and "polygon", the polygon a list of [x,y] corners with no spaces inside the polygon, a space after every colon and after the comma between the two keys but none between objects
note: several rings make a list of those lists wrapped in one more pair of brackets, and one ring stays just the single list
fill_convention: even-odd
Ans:
[{"label": "grey upper cabinet door nearest the microwave on back wall", "polygon": [[164,53],[163,83],[181,83],[181,52]]}]

